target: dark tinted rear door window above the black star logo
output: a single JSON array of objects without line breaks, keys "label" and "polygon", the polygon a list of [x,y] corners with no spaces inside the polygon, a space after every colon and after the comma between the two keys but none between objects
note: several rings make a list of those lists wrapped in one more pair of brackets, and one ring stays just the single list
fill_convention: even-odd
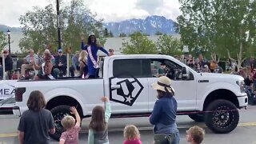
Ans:
[{"label": "dark tinted rear door window above the black star logo", "polygon": [[148,78],[150,72],[148,59],[116,59],[113,62],[113,76],[116,78]]}]

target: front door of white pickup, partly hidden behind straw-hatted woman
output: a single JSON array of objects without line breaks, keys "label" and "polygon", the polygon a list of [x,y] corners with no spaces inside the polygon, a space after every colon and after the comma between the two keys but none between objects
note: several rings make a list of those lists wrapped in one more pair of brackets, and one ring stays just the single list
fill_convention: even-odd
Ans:
[{"label": "front door of white pickup, partly hidden behind straw-hatted woman", "polygon": [[175,78],[177,72],[182,70],[182,65],[177,62],[170,61],[169,59],[150,59],[151,63],[151,78],[149,81],[149,110],[153,110],[154,102],[157,99],[156,90],[153,90],[151,84],[158,81],[158,77],[163,75],[165,70],[170,70],[170,74],[166,76],[169,77],[172,81],[170,86],[174,88],[175,96],[178,102],[178,110],[194,110],[196,106],[196,81],[194,80],[194,75],[190,73],[190,80],[182,80],[181,78]]}]

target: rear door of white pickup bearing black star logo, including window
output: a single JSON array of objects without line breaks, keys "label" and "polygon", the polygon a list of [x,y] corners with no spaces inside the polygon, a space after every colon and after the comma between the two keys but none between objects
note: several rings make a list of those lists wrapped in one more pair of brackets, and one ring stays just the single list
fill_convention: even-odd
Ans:
[{"label": "rear door of white pickup bearing black star logo, including window", "polygon": [[110,102],[115,114],[148,112],[147,77],[150,74],[150,67],[143,65],[144,60],[110,59]]}]

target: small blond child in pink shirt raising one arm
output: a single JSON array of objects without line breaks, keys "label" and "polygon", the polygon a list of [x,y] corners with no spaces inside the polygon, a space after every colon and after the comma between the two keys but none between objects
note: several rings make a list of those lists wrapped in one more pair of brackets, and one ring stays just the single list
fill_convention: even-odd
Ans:
[{"label": "small blond child in pink shirt raising one arm", "polygon": [[[81,118],[78,114],[78,110],[72,106],[70,107],[71,114],[74,114],[75,119],[67,115],[62,119],[62,126],[66,130],[62,133],[61,138],[59,139],[59,144],[78,144],[78,134],[79,131],[81,130],[80,123],[81,123]],[[75,122],[77,120],[77,122]]]}]

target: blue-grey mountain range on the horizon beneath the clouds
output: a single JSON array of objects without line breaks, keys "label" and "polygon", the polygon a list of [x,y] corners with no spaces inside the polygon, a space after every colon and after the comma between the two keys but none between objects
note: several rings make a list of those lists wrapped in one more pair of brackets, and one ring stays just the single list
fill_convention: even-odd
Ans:
[{"label": "blue-grey mountain range on the horizon beneath the clouds", "polygon": [[[142,33],[150,35],[156,34],[157,32],[162,34],[176,34],[174,21],[157,15],[148,16],[145,19],[132,18],[122,22],[105,22],[103,26],[111,31],[114,36],[118,36],[119,34],[128,35],[135,31],[142,31]],[[11,32],[22,32],[22,29],[18,27],[0,25],[0,31],[6,32],[7,30]]]}]

